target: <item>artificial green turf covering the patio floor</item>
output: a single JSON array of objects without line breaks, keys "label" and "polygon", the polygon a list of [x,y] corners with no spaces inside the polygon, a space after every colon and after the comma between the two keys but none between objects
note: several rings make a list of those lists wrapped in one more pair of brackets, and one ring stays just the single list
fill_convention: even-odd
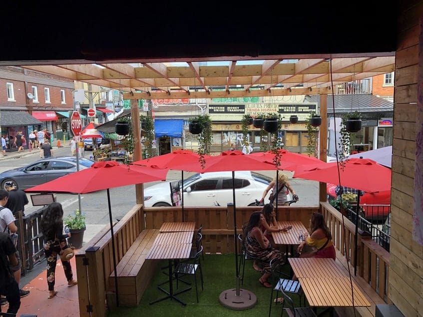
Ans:
[{"label": "artificial green turf covering the patio floor", "polygon": [[[198,283],[198,297],[199,303],[197,304],[195,296],[195,286],[192,284],[192,290],[182,293],[177,296],[180,300],[187,303],[186,306],[182,306],[174,300],[164,300],[153,305],[149,305],[150,301],[164,296],[164,293],[157,289],[157,284],[164,282],[167,277],[161,273],[160,268],[167,265],[167,261],[159,263],[157,271],[145,291],[141,302],[138,307],[135,308],[117,308],[113,312],[108,312],[108,317],[132,317],[132,316],[268,316],[269,305],[270,305],[270,294],[269,288],[263,287],[259,284],[258,280],[261,276],[259,272],[254,271],[253,262],[247,261],[245,264],[245,278],[242,289],[248,290],[254,293],[257,297],[257,304],[254,308],[245,311],[233,311],[223,307],[219,303],[219,295],[225,290],[236,288],[236,272],[235,272],[235,256],[233,254],[228,255],[205,255],[204,261],[201,260],[203,266],[204,276],[204,291],[201,290],[201,282],[199,278],[199,272],[197,276]],[[289,272],[288,265],[284,266],[286,273]],[[241,268],[242,271],[242,268]],[[191,276],[184,277],[184,280],[189,280]],[[193,278],[193,276],[192,276]],[[192,280],[193,281],[193,280]],[[179,283],[179,287],[185,288],[186,285]],[[168,284],[163,285],[164,289],[168,289]],[[176,282],[174,282],[174,288],[176,288]],[[279,296],[281,294],[279,293]],[[274,292],[274,298],[276,298],[276,292]],[[298,296],[293,295],[291,297],[294,301],[294,305],[298,307],[299,300]],[[282,305],[273,304],[272,316],[280,316]],[[286,316],[286,314],[284,314]]]}]

